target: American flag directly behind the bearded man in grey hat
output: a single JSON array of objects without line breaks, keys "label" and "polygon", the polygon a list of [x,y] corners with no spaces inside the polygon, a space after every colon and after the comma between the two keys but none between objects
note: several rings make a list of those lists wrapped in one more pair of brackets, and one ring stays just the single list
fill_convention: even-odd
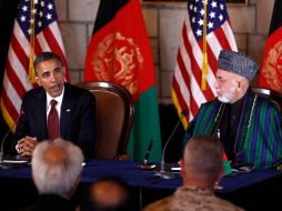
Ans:
[{"label": "American flag directly behind the bearded man in grey hat", "polygon": [[[225,1],[207,0],[207,13],[203,6],[204,0],[188,2],[188,16],[182,29],[182,41],[172,81],[172,100],[178,113],[181,114],[183,110],[189,111],[182,121],[184,128],[195,117],[201,103],[212,100],[215,96],[213,83],[218,69],[216,59],[221,49],[238,50]],[[204,27],[207,37],[204,37]],[[207,89],[202,90],[204,40],[207,40],[209,68],[205,78]]]}]

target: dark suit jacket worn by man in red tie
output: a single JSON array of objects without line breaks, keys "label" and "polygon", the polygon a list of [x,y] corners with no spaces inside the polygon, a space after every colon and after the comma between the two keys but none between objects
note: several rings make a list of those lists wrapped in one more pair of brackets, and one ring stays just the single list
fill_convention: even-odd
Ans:
[{"label": "dark suit jacket worn by man in red tie", "polygon": [[[47,93],[42,87],[24,94],[21,111],[23,114],[16,129],[16,142],[26,135],[47,140]],[[60,137],[78,144],[87,158],[93,157],[95,99],[88,90],[64,83]]]}]

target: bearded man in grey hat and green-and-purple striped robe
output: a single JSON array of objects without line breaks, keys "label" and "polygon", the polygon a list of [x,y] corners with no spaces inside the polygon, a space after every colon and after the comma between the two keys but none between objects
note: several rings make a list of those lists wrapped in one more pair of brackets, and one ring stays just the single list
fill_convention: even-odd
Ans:
[{"label": "bearded man in grey hat and green-and-purple striped robe", "polygon": [[223,50],[218,67],[218,98],[201,105],[184,140],[197,134],[216,135],[231,164],[275,167],[282,161],[282,117],[271,101],[249,87],[259,69],[256,62]]}]

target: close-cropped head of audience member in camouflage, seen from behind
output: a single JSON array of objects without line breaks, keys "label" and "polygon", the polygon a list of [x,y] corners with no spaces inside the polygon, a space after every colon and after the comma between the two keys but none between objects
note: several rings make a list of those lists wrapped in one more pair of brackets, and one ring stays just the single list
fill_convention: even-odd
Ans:
[{"label": "close-cropped head of audience member in camouflage, seen from behind", "polygon": [[223,149],[218,139],[203,135],[191,138],[181,161],[184,185],[213,189],[224,172],[222,154]]}]

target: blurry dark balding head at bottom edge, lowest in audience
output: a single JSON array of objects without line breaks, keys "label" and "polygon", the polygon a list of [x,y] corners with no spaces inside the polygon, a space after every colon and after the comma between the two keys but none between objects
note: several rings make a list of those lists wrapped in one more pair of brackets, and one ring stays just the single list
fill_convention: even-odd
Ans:
[{"label": "blurry dark balding head at bottom edge, lowest in audience", "polygon": [[131,210],[128,185],[119,178],[101,178],[85,192],[80,211],[127,211]]}]

